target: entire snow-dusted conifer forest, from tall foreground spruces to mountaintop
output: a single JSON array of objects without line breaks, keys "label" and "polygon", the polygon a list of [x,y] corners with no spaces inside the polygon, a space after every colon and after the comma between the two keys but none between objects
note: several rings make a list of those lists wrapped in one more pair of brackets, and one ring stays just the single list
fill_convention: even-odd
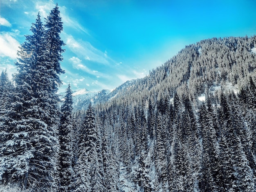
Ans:
[{"label": "entire snow-dusted conifer forest, from tall foreground spruces to mountaintop", "polygon": [[38,13],[0,74],[0,191],[256,191],[256,36],[187,45],[74,102],[57,94],[62,30],[58,5]]}]

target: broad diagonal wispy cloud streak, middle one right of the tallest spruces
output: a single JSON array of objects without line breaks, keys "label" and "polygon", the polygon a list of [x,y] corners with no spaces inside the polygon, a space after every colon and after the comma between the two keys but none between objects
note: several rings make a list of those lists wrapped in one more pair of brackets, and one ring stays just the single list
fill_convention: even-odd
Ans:
[{"label": "broad diagonal wispy cloud streak, middle one right of the tallest spruces", "polygon": [[67,36],[65,42],[71,51],[74,52],[77,56],[82,57],[85,60],[109,65],[105,53],[93,47],[90,42],[85,42],[83,40],[79,40],[78,42],[71,35]]}]

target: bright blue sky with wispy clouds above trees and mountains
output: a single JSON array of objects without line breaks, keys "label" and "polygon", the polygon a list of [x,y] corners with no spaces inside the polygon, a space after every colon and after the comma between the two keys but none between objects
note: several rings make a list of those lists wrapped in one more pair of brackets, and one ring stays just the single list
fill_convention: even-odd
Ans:
[{"label": "bright blue sky with wispy clouds above trees and mountains", "polygon": [[0,71],[16,71],[31,23],[58,3],[66,46],[63,92],[114,89],[142,78],[185,45],[256,34],[255,0],[1,0]]}]

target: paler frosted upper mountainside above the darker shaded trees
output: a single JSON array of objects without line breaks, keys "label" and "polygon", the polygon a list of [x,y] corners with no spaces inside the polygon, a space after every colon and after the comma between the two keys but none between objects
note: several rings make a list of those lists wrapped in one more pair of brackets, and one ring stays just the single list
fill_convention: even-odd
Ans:
[{"label": "paler frosted upper mountainside above the darker shaded trees", "polygon": [[124,84],[126,89],[121,85],[108,98],[120,92],[130,95],[167,91],[172,96],[185,82],[193,99],[204,93],[205,87],[230,84],[241,87],[247,84],[249,76],[255,80],[256,54],[252,52],[255,40],[255,36],[212,38],[186,46],[164,65],[150,71],[149,76],[128,81]]}]

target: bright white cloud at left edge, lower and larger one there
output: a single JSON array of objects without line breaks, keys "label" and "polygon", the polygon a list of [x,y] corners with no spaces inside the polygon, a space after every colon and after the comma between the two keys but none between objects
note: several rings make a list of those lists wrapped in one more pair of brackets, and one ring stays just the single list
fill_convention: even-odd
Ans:
[{"label": "bright white cloud at left edge, lower and larger one there", "polygon": [[9,33],[0,34],[0,56],[7,56],[12,59],[17,57],[17,50],[20,43]]}]

